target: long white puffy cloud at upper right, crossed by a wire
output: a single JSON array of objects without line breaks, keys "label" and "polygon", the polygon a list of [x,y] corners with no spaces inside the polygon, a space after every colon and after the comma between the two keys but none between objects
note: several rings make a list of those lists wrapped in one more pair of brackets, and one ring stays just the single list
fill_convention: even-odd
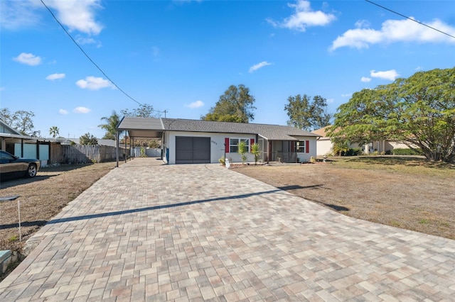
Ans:
[{"label": "long white puffy cloud at upper right, crossed by a wire", "polygon": [[[426,23],[428,26],[455,35],[455,27],[449,26],[438,19]],[[417,42],[417,43],[455,43],[455,39],[439,33],[437,30],[422,26],[412,20],[387,20],[382,23],[380,30],[368,28],[368,23],[358,21],[355,26],[338,36],[333,41],[330,50],[339,47],[368,48],[378,43]],[[362,27],[362,28],[359,28]],[[367,26],[367,28],[363,28]]]}]

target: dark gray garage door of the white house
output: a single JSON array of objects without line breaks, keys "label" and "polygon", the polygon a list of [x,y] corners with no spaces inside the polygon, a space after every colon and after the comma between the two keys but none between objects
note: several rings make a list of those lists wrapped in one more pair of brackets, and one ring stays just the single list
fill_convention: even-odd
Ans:
[{"label": "dark gray garage door of the white house", "polygon": [[176,136],[176,164],[210,164],[210,138]]}]

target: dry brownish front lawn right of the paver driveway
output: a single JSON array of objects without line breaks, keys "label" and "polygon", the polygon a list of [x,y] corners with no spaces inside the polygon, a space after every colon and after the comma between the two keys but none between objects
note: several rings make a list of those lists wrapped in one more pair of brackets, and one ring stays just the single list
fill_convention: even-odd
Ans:
[{"label": "dry brownish front lawn right of the paver driveway", "polygon": [[347,216],[455,240],[453,164],[356,157],[232,170]]}]

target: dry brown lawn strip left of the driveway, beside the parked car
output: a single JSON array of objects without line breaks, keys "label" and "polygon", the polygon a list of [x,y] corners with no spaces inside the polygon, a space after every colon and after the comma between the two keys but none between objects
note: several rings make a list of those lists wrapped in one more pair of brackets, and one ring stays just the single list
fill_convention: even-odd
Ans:
[{"label": "dry brown lawn strip left of the driveway, beside the parked car", "polygon": [[[0,196],[20,197],[16,201],[0,203],[0,250],[20,251],[31,235],[115,164],[67,164],[43,168],[33,179],[1,181]],[[17,201],[21,206],[21,242]]]}]

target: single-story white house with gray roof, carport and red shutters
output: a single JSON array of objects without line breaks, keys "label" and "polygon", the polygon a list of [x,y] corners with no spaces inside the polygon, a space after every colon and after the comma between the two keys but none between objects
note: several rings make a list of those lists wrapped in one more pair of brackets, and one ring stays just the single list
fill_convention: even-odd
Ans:
[{"label": "single-story white house with gray roof, carport and red shutters", "polygon": [[247,145],[250,153],[259,143],[261,162],[309,162],[316,157],[319,135],[284,125],[228,123],[178,118],[124,117],[117,131],[127,131],[130,138],[161,140],[163,160],[168,164],[218,163],[221,157],[241,162],[238,143]]}]

